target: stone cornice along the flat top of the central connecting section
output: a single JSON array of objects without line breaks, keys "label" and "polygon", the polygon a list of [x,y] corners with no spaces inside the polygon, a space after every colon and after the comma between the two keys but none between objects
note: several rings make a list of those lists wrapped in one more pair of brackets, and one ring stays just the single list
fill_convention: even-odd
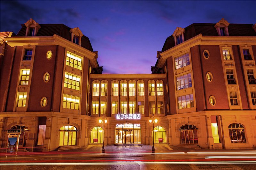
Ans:
[{"label": "stone cornice along the flat top of the central connecting section", "polygon": [[116,79],[116,78],[166,78],[166,74],[90,74],[90,78]]}]

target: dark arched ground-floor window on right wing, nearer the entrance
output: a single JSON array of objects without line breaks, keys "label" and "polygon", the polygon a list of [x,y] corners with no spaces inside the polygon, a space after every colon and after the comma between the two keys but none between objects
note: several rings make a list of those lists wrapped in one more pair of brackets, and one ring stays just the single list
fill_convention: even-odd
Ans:
[{"label": "dark arched ground-floor window on right wing, nearer the entrance", "polygon": [[183,125],[180,127],[181,144],[198,144],[197,128],[194,125]]}]

